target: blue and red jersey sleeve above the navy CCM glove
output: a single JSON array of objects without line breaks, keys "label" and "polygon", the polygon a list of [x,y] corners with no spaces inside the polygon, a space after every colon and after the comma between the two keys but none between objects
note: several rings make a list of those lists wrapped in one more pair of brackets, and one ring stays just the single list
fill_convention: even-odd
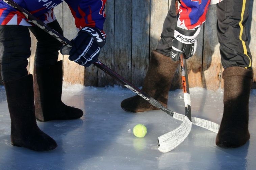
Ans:
[{"label": "blue and red jersey sleeve above the navy CCM glove", "polygon": [[103,30],[106,0],[65,0],[75,18],[76,27],[96,27]]}]

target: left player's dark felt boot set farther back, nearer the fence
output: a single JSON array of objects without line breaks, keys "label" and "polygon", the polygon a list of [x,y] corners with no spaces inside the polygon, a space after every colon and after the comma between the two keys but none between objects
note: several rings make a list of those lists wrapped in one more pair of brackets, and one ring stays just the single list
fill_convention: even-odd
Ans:
[{"label": "left player's dark felt boot set farther back, nearer the fence", "polygon": [[83,111],[61,101],[62,61],[50,67],[34,67],[35,116],[38,121],[80,118]]}]

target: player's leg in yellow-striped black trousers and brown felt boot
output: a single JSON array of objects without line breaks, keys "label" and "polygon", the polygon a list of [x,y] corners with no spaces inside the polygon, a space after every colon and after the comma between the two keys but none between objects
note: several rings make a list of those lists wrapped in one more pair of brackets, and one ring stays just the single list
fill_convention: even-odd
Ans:
[{"label": "player's leg in yellow-striped black trousers and brown felt boot", "polygon": [[216,145],[239,147],[250,138],[249,96],[252,56],[248,47],[246,21],[249,0],[224,0],[217,4],[217,35],[224,67],[224,111]]}]

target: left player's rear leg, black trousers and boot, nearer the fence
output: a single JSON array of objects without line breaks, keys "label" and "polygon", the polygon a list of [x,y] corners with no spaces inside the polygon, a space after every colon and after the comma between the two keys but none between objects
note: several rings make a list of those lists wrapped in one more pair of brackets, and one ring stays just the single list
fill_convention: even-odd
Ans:
[{"label": "left player's rear leg, black trousers and boot, nearer the fence", "polygon": [[[57,20],[48,26],[62,33]],[[39,121],[80,118],[82,110],[62,103],[62,61],[57,62],[62,46],[55,38],[38,27],[30,28],[37,39],[34,66],[35,115]]]}]

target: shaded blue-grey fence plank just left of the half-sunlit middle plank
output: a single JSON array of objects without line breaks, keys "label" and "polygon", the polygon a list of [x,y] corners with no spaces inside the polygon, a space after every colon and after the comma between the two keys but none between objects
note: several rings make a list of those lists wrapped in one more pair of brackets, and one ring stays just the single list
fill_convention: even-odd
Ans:
[{"label": "shaded blue-grey fence plank just left of the half-sunlit middle plank", "polygon": [[131,76],[135,86],[142,86],[149,65],[150,0],[132,1]]}]

